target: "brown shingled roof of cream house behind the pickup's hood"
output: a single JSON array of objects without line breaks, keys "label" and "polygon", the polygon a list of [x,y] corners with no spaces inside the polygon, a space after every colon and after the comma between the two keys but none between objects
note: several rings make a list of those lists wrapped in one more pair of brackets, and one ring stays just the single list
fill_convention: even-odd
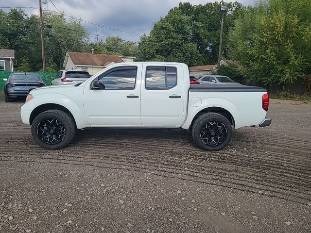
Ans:
[{"label": "brown shingled roof of cream house behind the pickup's hood", "polygon": [[100,66],[104,67],[112,62],[120,63],[123,60],[117,55],[92,54],[84,52],[68,52],[74,65]]}]

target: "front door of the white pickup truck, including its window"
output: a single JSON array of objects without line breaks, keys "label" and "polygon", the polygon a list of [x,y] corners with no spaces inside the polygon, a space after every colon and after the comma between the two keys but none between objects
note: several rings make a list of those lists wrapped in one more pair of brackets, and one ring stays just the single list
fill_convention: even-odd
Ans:
[{"label": "front door of the white pickup truck, including its window", "polygon": [[113,67],[98,77],[99,89],[85,86],[84,109],[92,127],[141,126],[141,70],[141,64]]}]

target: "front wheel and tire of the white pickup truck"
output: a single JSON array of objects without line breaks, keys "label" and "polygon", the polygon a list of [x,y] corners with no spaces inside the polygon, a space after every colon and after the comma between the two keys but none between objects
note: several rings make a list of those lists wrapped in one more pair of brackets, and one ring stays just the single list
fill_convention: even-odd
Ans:
[{"label": "front wheel and tire of the white pickup truck", "polygon": [[57,150],[66,147],[71,142],[76,133],[76,125],[67,113],[53,109],[35,117],[31,133],[39,146]]}]

